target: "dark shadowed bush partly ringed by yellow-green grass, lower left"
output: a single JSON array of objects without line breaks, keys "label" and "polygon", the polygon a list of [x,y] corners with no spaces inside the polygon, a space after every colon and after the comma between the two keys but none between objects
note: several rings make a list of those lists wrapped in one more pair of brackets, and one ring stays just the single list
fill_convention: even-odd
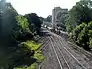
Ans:
[{"label": "dark shadowed bush partly ringed by yellow-green grass, lower left", "polygon": [[[20,44],[15,50],[9,55],[9,69],[22,65],[31,65],[36,61],[31,58],[34,55],[34,51],[27,48],[25,45]],[[32,61],[33,60],[33,61]]]}]

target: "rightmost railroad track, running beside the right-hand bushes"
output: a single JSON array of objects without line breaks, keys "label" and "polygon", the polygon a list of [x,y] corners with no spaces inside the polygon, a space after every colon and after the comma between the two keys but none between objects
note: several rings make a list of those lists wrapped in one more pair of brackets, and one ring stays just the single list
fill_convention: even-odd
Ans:
[{"label": "rightmost railroad track, running beside the right-hand bushes", "polygon": [[[67,48],[67,50],[69,52],[71,52],[81,63],[83,63],[84,66],[87,66],[87,69],[92,69],[92,59],[90,60],[89,58],[87,58],[86,56],[90,56],[90,58],[92,58],[92,54],[90,54],[89,52],[81,52],[82,50],[80,49],[80,51],[78,50],[74,50],[72,47],[70,47],[71,45],[69,43],[67,43],[64,39],[60,38],[60,41],[65,44],[65,47]],[[74,47],[74,46],[73,46]],[[79,49],[79,48],[78,48]],[[80,55],[79,55],[80,54]]]}]

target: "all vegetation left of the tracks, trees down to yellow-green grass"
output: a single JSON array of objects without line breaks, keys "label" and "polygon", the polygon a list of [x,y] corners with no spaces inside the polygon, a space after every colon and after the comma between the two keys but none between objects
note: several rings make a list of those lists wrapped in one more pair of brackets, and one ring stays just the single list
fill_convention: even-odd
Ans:
[{"label": "all vegetation left of the tracks, trees down to yellow-green grass", "polygon": [[35,69],[41,63],[41,24],[36,13],[19,15],[11,3],[0,0],[0,69]]}]

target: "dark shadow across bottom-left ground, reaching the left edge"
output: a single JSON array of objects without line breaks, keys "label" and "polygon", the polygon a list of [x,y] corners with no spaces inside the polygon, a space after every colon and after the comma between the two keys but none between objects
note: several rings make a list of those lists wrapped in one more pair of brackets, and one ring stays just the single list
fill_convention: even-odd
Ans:
[{"label": "dark shadow across bottom-left ground, reaching the left edge", "polygon": [[[8,49],[8,48],[7,48]],[[37,59],[32,56],[34,53],[25,53],[23,50],[12,51],[13,48],[9,48],[9,51],[5,48],[0,48],[0,69],[14,69],[14,67],[30,66]]]}]

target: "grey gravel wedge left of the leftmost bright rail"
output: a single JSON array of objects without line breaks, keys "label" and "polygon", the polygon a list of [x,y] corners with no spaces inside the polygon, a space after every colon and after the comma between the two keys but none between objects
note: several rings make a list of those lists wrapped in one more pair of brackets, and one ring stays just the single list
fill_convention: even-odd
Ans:
[{"label": "grey gravel wedge left of the leftmost bright rail", "polygon": [[[61,69],[61,68],[58,68],[59,67],[59,64],[58,64],[58,61],[57,61],[57,56],[56,56],[56,53],[54,52],[54,50],[52,49],[52,43],[49,39],[49,37],[46,37],[47,38],[47,41],[49,42],[46,42],[47,45],[45,45],[45,60],[40,64],[39,66],[39,69]],[[47,65],[44,66],[44,62],[48,62]]]}]

